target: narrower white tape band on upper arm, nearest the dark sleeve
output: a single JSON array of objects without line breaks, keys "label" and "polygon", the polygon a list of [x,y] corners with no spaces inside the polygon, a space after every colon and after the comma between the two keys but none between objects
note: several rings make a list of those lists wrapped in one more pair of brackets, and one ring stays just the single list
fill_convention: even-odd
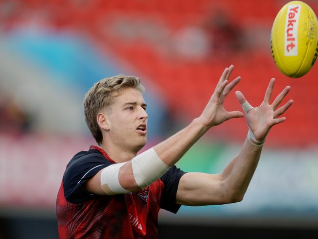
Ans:
[{"label": "narrower white tape band on upper arm, nearest the dark sleeve", "polygon": [[113,164],[105,167],[100,175],[100,186],[108,195],[129,193],[130,191],[121,187],[119,183],[119,169],[126,163]]}]

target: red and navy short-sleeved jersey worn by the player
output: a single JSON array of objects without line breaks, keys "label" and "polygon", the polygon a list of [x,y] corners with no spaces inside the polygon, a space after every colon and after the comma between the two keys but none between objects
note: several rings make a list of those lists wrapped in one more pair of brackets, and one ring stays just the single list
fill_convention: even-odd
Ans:
[{"label": "red and navy short-sleeved jersey worn by the player", "polygon": [[159,209],[177,213],[176,194],[185,172],[171,167],[147,188],[127,194],[86,191],[87,180],[112,164],[96,146],[77,153],[68,163],[56,201],[60,239],[154,239]]}]

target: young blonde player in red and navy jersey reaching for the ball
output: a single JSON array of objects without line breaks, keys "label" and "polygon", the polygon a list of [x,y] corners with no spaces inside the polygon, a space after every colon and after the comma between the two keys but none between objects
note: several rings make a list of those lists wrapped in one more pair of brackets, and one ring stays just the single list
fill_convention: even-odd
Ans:
[{"label": "young blonde player in red and navy jersey reaching for the ball", "polygon": [[[287,86],[270,104],[274,79],[264,101],[253,108],[236,92],[249,127],[241,151],[219,174],[185,173],[174,164],[213,126],[238,117],[223,102],[240,81],[228,83],[233,66],[223,72],[202,114],[169,139],[136,156],[147,135],[144,88],[133,76],[118,75],[97,82],[84,100],[86,122],[96,142],[69,162],[57,196],[61,239],[157,238],[160,208],[177,213],[181,205],[239,202],[257,166],[262,145],[278,118],[293,103],[277,108]],[[200,159],[195,159],[200,160]]]}]

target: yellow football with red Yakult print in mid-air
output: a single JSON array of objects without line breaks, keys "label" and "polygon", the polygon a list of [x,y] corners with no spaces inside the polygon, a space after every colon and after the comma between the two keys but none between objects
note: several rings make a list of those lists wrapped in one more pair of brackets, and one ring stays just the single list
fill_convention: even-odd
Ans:
[{"label": "yellow football with red Yakult print in mid-air", "polygon": [[317,17],[306,3],[291,1],[278,12],[271,48],[278,69],[290,77],[309,72],[318,56]]}]

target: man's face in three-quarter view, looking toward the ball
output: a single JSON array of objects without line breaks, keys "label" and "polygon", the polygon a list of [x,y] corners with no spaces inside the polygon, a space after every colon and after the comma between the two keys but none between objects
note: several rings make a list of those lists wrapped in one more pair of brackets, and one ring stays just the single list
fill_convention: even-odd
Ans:
[{"label": "man's face in three-quarter view, looking toward the ball", "polygon": [[133,88],[125,88],[115,95],[107,114],[110,139],[105,140],[111,140],[123,149],[139,151],[146,144],[146,107],[141,93]]}]

